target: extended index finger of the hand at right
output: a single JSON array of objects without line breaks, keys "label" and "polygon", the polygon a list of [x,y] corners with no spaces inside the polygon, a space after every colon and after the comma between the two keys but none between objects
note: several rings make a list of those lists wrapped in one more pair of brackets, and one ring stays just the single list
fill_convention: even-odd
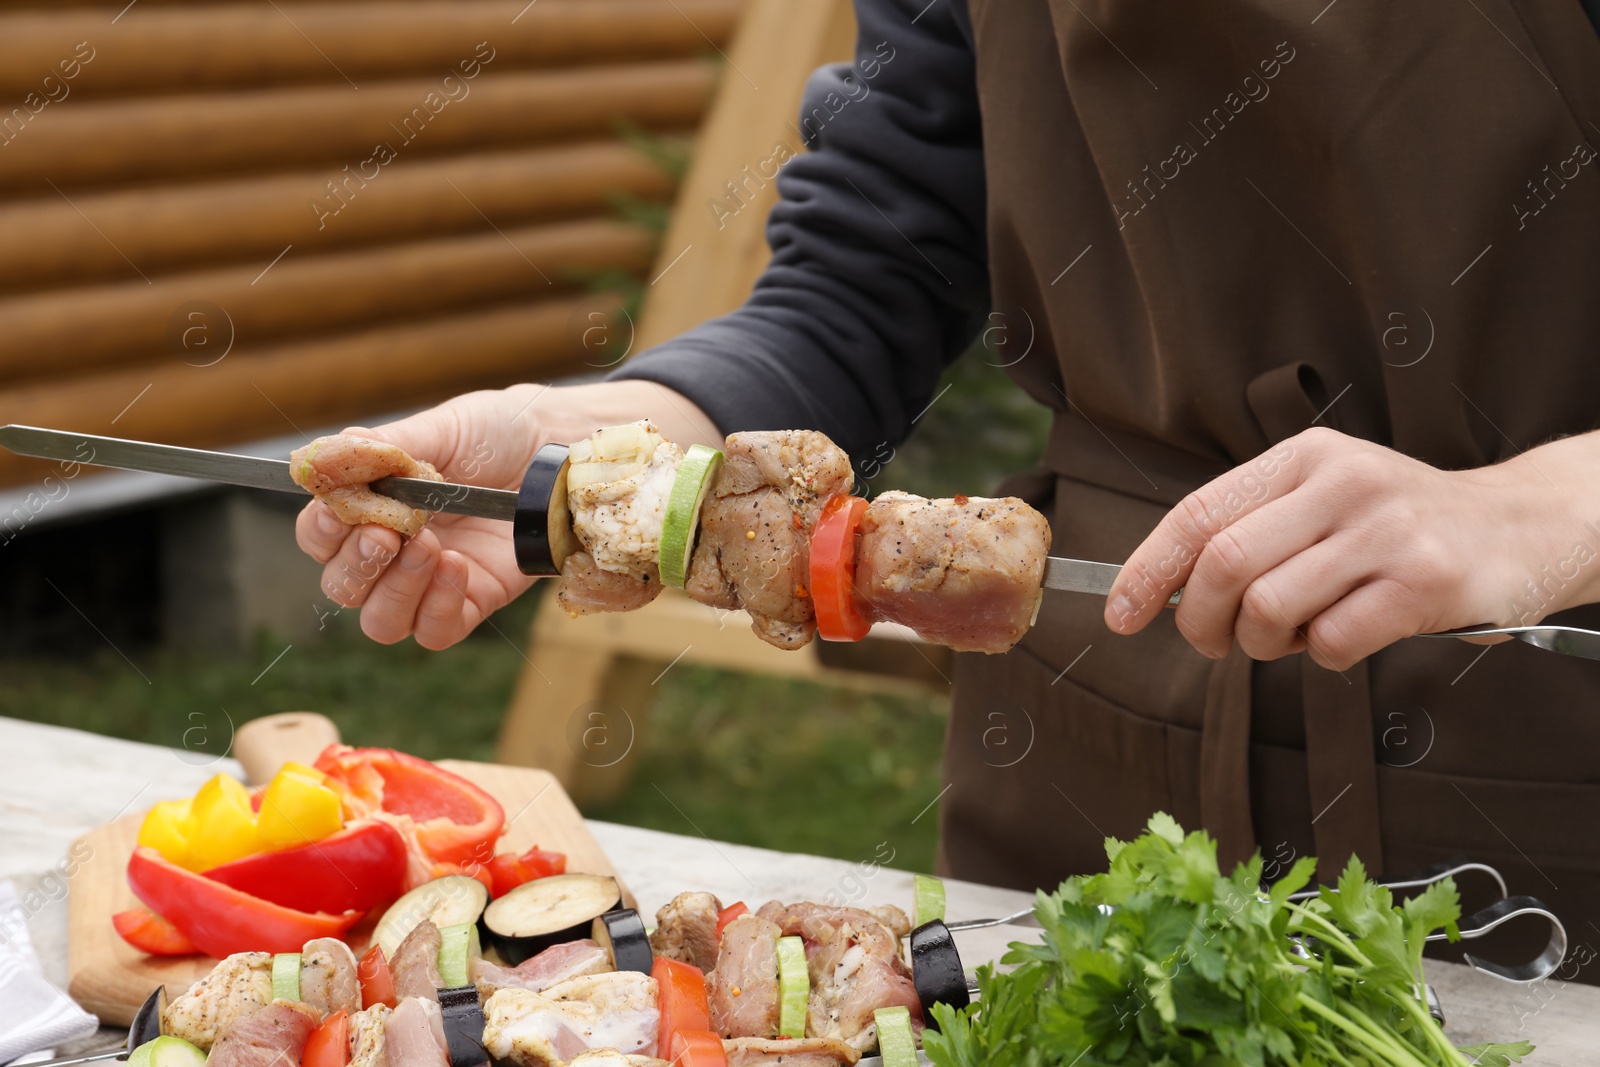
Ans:
[{"label": "extended index finger of the hand at right", "polygon": [[1149,624],[1189,581],[1206,542],[1299,486],[1310,467],[1301,453],[1322,451],[1336,437],[1333,430],[1307,430],[1186,496],[1128,557],[1106,601],[1106,624],[1118,633]]}]

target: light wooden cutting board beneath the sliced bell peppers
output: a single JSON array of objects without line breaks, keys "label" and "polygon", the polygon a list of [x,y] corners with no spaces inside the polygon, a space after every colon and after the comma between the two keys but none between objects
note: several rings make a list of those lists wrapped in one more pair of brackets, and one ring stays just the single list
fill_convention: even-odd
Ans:
[{"label": "light wooden cutting board beneath the sliced bell peppers", "polygon": [[[568,870],[616,875],[578,808],[549,771],[466,760],[438,760],[438,766],[475,782],[506,809],[507,830],[498,851],[523,853],[538,845],[566,853]],[[210,957],[144,955],[112,929],[115,912],[139,904],[125,872],[142,821],[144,811],[126,814],[85,833],[72,851],[74,856],[85,854],[86,846],[90,859],[78,869],[67,896],[67,992],[101,1022],[117,1025],[128,1025],[157,985],[165,982],[168,998],[176,997],[216,965]],[[627,886],[622,886],[622,899],[634,905]],[[366,950],[376,918],[350,931],[347,941],[357,955]]]}]

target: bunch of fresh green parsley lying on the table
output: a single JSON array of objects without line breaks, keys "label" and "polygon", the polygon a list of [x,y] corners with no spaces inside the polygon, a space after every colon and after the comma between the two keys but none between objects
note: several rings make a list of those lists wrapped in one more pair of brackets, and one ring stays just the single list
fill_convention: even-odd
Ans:
[{"label": "bunch of fresh green parsley lying on the table", "polygon": [[1315,861],[1270,889],[1261,856],[1224,877],[1216,843],[1150,817],[1110,869],[1038,894],[1040,944],[978,969],[981,998],[933,1009],[936,1067],[1506,1067],[1526,1043],[1454,1048],[1422,1000],[1422,942],[1459,937],[1453,881],[1395,905],[1352,859],[1306,902]]}]

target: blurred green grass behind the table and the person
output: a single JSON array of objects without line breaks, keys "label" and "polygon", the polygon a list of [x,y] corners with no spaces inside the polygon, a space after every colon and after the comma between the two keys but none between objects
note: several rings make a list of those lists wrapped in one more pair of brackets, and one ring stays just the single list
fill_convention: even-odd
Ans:
[{"label": "blurred green grass behind the table and the person", "polygon": [[[952,389],[872,490],[987,493],[1038,456],[1043,410],[979,352],[946,382]],[[523,597],[443,653],[374,645],[344,611],[309,641],[285,651],[285,640],[264,635],[245,657],[125,645],[131,664],[109,646],[88,657],[0,659],[0,715],[221,752],[238,723],[315,710],[352,744],[491,760],[533,609],[534,598]],[[942,699],[686,665],[656,689],[627,790],[587,814],[851,861],[880,854],[886,841],[894,865],[931,869]]]}]

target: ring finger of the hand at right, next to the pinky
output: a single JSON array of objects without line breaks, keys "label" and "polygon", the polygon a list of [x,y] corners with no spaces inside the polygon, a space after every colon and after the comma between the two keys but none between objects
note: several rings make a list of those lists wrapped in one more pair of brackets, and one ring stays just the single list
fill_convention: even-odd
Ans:
[{"label": "ring finger of the hand at right, next to the pinky", "polygon": [[1373,576],[1371,553],[1357,542],[1355,534],[1333,534],[1250,584],[1234,621],[1234,640],[1246,656],[1278,659],[1306,649],[1306,624]]}]

